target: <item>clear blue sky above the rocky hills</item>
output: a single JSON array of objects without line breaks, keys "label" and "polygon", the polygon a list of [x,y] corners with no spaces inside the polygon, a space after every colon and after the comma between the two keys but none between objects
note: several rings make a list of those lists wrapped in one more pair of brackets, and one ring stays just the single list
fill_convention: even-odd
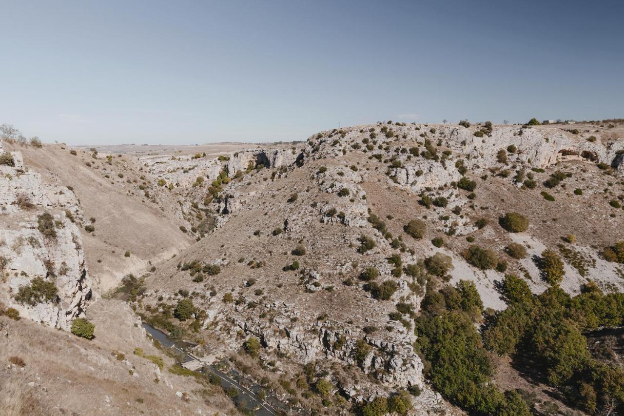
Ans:
[{"label": "clear blue sky above the rocky hills", "polygon": [[624,117],[624,1],[6,1],[0,123],[68,144]]}]

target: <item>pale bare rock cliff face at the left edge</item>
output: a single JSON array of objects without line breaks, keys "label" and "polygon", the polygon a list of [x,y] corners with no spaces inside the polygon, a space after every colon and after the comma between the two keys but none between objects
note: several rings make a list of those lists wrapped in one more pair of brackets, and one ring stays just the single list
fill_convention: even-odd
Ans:
[{"label": "pale bare rock cliff face at the left edge", "polygon": [[[76,196],[43,184],[20,152],[0,144],[0,301],[22,317],[67,330],[92,297]],[[12,161],[11,157],[12,156]]]}]

